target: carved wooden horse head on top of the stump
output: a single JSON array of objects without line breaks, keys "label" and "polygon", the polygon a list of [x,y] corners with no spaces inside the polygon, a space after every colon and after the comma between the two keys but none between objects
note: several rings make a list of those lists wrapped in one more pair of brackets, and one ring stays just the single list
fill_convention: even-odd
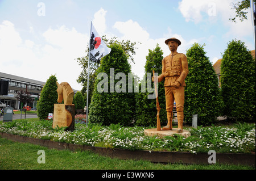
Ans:
[{"label": "carved wooden horse head on top of the stump", "polygon": [[61,82],[60,84],[57,83],[57,93],[58,93],[58,103],[61,103],[64,100],[64,104],[72,105],[73,98],[74,98],[74,91],[72,90],[71,86],[68,82]]}]

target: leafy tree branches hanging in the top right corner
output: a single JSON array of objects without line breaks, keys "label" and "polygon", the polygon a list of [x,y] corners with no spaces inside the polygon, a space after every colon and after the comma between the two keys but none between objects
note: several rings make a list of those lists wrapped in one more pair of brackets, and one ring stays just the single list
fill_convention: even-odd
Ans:
[{"label": "leafy tree branches hanging in the top right corner", "polygon": [[[255,6],[255,0],[253,0]],[[243,20],[247,19],[247,13],[245,10],[250,8],[250,0],[242,0],[238,3],[233,3],[233,8],[236,10],[236,16],[234,18],[229,18],[232,22],[236,23],[236,18],[239,18],[242,22]],[[255,24],[255,11],[254,11],[254,24]]]}]

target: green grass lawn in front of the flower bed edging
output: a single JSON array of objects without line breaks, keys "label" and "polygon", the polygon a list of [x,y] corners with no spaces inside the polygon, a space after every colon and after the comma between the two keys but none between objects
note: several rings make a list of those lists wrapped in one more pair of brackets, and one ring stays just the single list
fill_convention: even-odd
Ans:
[{"label": "green grass lawn in front of the flower bed edging", "polygon": [[[46,163],[38,163],[39,150],[45,151]],[[122,160],[104,157],[90,151],[48,149],[0,138],[1,170],[254,170],[255,167],[237,165],[183,165],[148,161]]]}]

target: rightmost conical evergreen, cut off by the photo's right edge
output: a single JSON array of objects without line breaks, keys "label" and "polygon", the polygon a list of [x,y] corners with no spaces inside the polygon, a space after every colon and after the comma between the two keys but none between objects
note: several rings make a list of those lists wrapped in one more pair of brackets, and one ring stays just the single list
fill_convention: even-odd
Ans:
[{"label": "rightmost conical evergreen, cut off by the photo's right edge", "polygon": [[233,40],[221,61],[224,115],[238,121],[255,119],[255,60],[240,40]]}]

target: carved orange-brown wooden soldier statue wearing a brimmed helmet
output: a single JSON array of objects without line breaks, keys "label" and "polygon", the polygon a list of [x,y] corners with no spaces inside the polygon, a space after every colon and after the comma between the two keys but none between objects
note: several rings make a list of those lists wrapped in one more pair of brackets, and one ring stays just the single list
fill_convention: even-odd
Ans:
[{"label": "carved orange-brown wooden soldier statue wearing a brimmed helmet", "polygon": [[185,78],[188,75],[188,61],[183,53],[177,53],[177,47],[181,44],[180,40],[172,37],[167,39],[165,43],[171,50],[171,54],[162,60],[162,74],[158,77],[152,77],[152,81],[158,78],[158,82],[164,80],[164,90],[166,95],[166,111],[168,123],[163,130],[172,130],[172,110],[174,108],[174,100],[176,102],[177,132],[183,131],[183,108],[184,108],[184,90]]}]

